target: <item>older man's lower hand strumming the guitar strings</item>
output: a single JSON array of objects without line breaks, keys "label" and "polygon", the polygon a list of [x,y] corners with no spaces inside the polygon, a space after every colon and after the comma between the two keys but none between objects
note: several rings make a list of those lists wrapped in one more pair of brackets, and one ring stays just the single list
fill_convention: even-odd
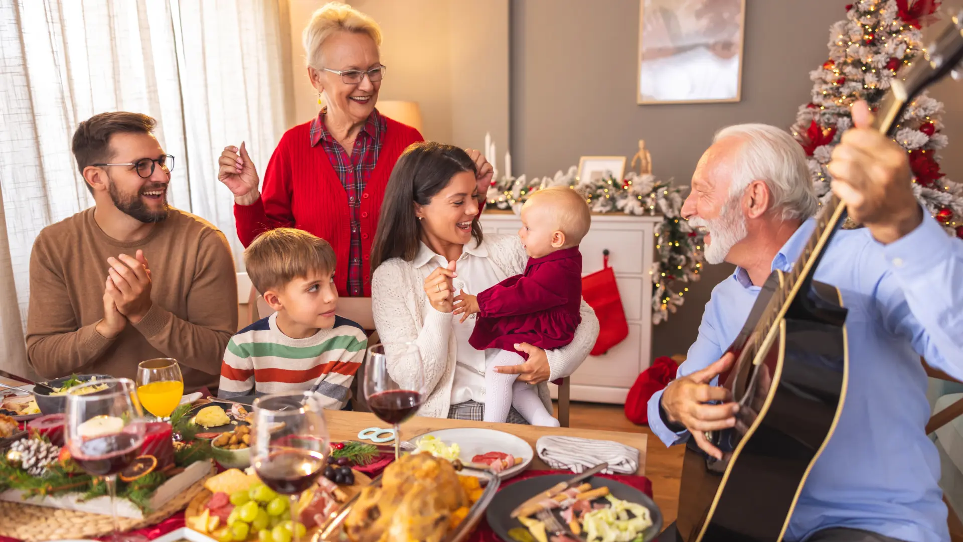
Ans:
[{"label": "older man's lower hand strumming the guitar strings", "polygon": [[[732,393],[728,389],[712,386],[710,382],[732,366],[735,359],[732,353],[726,354],[711,366],[673,380],[665,388],[662,398],[668,420],[689,429],[695,444],[716,459],[722,459],[722,452],[706,439],[704,433],[735,426],[739,405],[732,402]],[[722,403],[712,404],[710,401]]]}]

